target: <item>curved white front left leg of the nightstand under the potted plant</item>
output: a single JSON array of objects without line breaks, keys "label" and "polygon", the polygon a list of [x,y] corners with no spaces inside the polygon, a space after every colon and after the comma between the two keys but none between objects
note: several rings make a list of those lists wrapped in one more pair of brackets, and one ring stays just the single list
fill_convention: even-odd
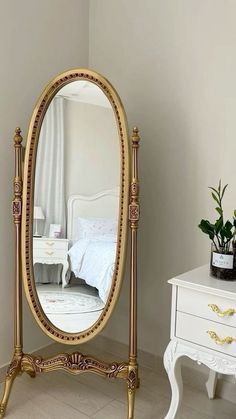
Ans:
[{"label": "curved white front left leg of the nightstand under the potted plant", "polygon": [[164,354],[164,365],[171,385],[171,405],[165,419],[175,419],[183,396],[181,358],[174,355],[175,342],[170,342]]}]

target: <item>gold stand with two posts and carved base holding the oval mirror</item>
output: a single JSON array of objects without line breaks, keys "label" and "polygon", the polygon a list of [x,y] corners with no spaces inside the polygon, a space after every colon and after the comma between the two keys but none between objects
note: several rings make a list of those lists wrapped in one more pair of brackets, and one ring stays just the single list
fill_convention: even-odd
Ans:
[{"label": "gold stand with two posts and carved base holding the oval mirror", "polygon": [[132,133],[132,179],[130,185],[129,223],[131,230],[131,263],[130,263],[130,332],[129,361],[122,363],[105,363],[79,352],[59,354],[43,359],[23,353],[22,337],[22,274],[21,274],[21,215],[22,215],[22,136],[20,128],[16,128],[14,136],[15,177],[14,200],[12,214],[16,236],[16,271],[15,271],[15,334],[14,356],[8,368],[3,398],[0,403],[0,418],[4,417],[12,384],[18,375],[26,372],[35,377],[39,372],[65,370],[71,374],[93,372],[108,378],[126,380],[128,387],[128,419],[134,418],[135,391],[139,386],[137,364],[137,230],[139,222],[139,180],[138,180],[138,148],[139,130]]}]

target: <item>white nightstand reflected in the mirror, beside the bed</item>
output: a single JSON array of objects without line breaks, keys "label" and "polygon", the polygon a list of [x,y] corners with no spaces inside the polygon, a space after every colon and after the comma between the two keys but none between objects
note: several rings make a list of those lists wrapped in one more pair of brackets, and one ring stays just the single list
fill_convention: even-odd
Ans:
[{"label": "white nightstand reflected in the mirror, beside the bed", "polygon": [[53,239],[47,237],[33,238],[33,260],[35,263],[62,264],[62,287],[67,284],[66,275],[69,274],[68,239]]}]

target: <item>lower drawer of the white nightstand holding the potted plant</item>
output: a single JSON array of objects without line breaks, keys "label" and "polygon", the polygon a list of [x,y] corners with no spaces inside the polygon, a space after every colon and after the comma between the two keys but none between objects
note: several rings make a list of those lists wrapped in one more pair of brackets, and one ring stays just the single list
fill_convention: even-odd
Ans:
[{"label": "lower drawer of the white nightstand holding the potted plant", "polygon": [[219,345],[207,333],[208,331],[215,332],[220,339],[227,336],[236,339],[234,327],[180,312],[177,312],[176,320],[176,337],[227,355],[236,356],[236,342]]}]

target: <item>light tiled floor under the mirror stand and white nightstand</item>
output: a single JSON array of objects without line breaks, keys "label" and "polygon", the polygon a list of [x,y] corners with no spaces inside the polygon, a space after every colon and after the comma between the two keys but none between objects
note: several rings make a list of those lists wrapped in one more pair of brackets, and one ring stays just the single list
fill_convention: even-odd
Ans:
[{"label": "light tiled floor under the mirror stand and white nightstand", "polygon": [[[111,354],[98,357],[112,359]],[[102,356],[103,355],[103,356]],[[163,373],[141,368],[135,419],[163,419],[170,403],[170,387]],[[2,389],[2,385],[1,385]],[[204,390],[204,389],[203,389]],[[6,418],[9,419],[126,419],[126,385],[92,374],[72,376],[64,372],[23,375],[16,379]],[[234,419],[236,404],[208,400],[206,392],[184,387],[178,419]]]}]

